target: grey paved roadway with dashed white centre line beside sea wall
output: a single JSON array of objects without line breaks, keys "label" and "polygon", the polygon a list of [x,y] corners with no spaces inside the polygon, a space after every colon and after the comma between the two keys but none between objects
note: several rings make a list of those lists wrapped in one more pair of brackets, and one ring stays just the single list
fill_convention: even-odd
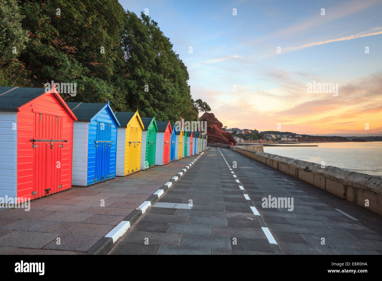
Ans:
[{"label": "grey paved roadway with dashed white centre line beside sea wall", "polygon": [[[269,196],[293,198],[293,210],[262,208]],[[381,234],[377,214],[210,147],[108,254],[378,255]]]}]

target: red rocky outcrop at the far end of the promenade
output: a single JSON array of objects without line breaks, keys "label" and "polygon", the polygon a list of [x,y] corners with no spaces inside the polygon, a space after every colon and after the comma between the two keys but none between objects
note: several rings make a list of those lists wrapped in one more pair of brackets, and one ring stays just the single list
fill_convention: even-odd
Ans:
[{"label": "red rocky outcrop at the far end of the promenade", "polygon": [[217,120],[213,113],[205,112],[199,121],[207,122],[207,136],[209,143],[223,143],[226,145],[236,145],[236,141],[231,133],[222,130],[223,124]]}]

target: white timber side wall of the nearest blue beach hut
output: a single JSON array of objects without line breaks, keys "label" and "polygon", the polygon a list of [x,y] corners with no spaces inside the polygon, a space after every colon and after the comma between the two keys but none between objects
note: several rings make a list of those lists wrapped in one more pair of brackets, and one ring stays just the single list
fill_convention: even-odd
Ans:
[{"label": "white timber side wall of the nearest blue beach hut", "polygon": [[89,122],[73,122],[72,185],[87,186]]}]

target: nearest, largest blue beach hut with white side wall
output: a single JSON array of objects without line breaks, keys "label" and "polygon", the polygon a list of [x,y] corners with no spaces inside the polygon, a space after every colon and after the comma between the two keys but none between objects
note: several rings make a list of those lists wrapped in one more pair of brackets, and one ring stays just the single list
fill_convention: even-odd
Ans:
[{"label": "nearest, largest blue beach hut with white side wall", "polygon": [[73,126],[72,184],[87,186],[114,178],[121,126],[109,102],[66,104],[78,119]]}]

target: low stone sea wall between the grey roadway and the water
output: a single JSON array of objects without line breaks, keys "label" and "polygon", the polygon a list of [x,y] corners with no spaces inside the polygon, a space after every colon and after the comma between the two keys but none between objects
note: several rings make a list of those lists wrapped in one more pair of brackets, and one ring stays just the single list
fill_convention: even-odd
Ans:
[{"label": "low stone sea wall between the grey roadway and the water", "polygon": [[380,177],[333,166],[321,168],[321,165],[312,162],[238,147],[234,147],[233,150],[382,216]]}]

